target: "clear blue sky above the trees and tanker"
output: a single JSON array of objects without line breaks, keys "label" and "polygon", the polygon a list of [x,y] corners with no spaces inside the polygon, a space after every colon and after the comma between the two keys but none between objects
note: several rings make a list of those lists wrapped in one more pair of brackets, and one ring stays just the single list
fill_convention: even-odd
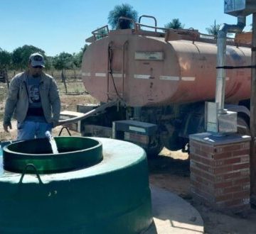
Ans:
[{"label": "clear blue sky above the trees and tanker", "polygon": [[[139,16],[154,16],[164,27],[178,18],[184,28],[207,33],[216,23],[236,24],[237,18],[224,13],[224,0],[0,0],[0,48],[12,52],[33,45],[55,56],[60,52],[79,52],[91,32],[107,24],[114,6],[129,4]],[[154,22],[142,18],[143,24]],[[246,18],[250,30],[252,15]]]}]

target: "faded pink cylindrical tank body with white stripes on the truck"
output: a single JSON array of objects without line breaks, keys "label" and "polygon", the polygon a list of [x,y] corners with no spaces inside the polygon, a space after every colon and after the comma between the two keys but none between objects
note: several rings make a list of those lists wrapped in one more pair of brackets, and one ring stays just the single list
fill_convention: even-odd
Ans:
[{"label": "faded pink cylindrical tank body with white stripes on the truck", "polygon": [[[214,40],[144,35],[112,30],[95,40],[82,59],[82,79],[89,93],[102,102],[121,96],[128,106],[163,106],[215,98],[217,45]],[[199,35],[199,34],[198,34]],[[250,64],[250,48],[228,45],[227,64]],[[250,97],[250,69],[228,69],[226,101]]]}]

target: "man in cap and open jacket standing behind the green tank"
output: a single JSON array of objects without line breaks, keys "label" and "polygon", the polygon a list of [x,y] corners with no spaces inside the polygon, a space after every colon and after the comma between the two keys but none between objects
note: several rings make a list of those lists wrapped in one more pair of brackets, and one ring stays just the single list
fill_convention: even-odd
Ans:
[{"label": "man in cap and open jacket standing behind the green tank", "polygon": [[17,120],[17,140],[44,138],[47,130],[58,124],[60,97],[58,87],[43,72],[43,55],[33,53],[28,60],[28,70],[11,79],[4,111],[4,130],[11,129],[11,117]]}]

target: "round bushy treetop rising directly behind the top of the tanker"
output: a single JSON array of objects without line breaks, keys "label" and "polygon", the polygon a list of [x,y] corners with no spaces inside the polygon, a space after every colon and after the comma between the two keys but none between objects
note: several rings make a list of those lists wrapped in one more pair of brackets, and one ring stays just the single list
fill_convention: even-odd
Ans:
[{"label": "round bushy treetop rising directly behind the top of the tanker", "polygon": [[[133,9],[132,6],[129,4],[122,4],[114,6],[114,9],[110,11],[107,20],[110,26],[113,28],[118,27],[118,19],[120,17],[127,17],[132,18],[132,20],[137,21],[138,19],[138,12]],[[132,22],[127,20],[121,20],[119,21],[119,28],[125,29],[125,28],[132,28]]]}]

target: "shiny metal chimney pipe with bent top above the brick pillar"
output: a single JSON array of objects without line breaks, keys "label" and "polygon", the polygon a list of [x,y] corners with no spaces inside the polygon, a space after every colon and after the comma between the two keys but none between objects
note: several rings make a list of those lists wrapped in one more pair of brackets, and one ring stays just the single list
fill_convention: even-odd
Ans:
[{"label": "shiny metal chimney pipe with bent top above the brick pillar", "polygon": [[[217,67],[225,66],[225,55],[226,55],[226,39],[227,33],[241,33],[245,28],[246,17],[238,16],[238,24],[228,25],[224,23],[218,30],[217,38]],[[218,113],[224,113],[225,103],[225,69],[217,69],[216,79],[216,91],[215,91],[215,103],[218,103]]]}]

